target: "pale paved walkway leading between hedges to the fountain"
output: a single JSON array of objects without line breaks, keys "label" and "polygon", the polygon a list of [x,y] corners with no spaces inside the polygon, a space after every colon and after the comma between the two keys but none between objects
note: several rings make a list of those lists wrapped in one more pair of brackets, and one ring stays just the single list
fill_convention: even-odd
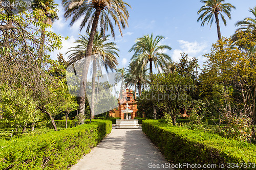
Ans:
[{"label": "pale paved walkway leading between hedges to the fountain", "polygon": [[141,129],[112,129],[112,132],[72,166],[71,170],[168,169],[151,166],[165,163],[168,162],[164,156]]}]

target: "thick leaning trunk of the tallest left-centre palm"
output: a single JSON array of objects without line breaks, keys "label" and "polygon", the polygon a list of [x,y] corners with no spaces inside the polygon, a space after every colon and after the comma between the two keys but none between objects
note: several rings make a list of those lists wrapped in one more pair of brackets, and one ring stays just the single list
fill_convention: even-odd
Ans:
[{"label": "thick leaning trunk of the tallest left-centre palm", "polygon": [[[98,20],[99,20],[99,15],[100,15],[100,8],[98,7],[96,9],[95,12],[95,17],[93,19],[93,24],[92,24],[92,29],[91,29],[91,33],[90,33],[90,37],[88,40],[88,45],[87,45],[87,49],[86,49],[86,57],[89,57],[92,55],[92,51],[93,51],[93,39],[94,39],[94,35],[98,26]],[[88,69],[89,69],[89,64],[90,62],[87,62],[87,64],[83,65],[83,71],[82,71],[82,79],[81,79],[81,83],[80,83],[80,90],[81,88],[85,89],[86,88],[86,82],[87,82],[87,74],[88,74]],[[85,92],[85,91],[84,91]],[[84,108],[86,106],[86,96],[81,96],[79,99],[79,113],[78,113],[78,118],[80,120],[78,120],[80,123],[84,122]]]}]

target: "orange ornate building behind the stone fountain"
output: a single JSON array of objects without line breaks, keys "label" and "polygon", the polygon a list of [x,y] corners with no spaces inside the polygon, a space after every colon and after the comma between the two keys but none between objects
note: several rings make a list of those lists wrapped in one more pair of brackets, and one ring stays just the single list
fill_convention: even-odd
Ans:
[{"label": "orange ornate building behind the stone fountain", "polygon": [[[125,110],[126,103],[129,105],[129,109],[133,110],[132,113],[122,113],[123,110]],[[126,89],[125,91],[122,91],[122,94],[119,95],[119,100],[118,100],[118,108],[115,108],[114,111],[110,111],[110,116],[112,117],[121,117],[121,119],[127,117],[129,119],[134,119],[134,117],[137,117],[137,104],[136,101],[134,100],[133,96],[133,90]]]}]

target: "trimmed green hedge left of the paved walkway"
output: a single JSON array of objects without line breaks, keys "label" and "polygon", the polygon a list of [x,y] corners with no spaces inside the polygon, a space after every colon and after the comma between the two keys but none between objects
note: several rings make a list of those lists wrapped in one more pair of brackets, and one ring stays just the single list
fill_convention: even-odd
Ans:
[{"label": "trimmed green hedge left of the paved walkway", "polygon": [[111,132],[110,121],[0,141],[0,169],[68,169]]}]

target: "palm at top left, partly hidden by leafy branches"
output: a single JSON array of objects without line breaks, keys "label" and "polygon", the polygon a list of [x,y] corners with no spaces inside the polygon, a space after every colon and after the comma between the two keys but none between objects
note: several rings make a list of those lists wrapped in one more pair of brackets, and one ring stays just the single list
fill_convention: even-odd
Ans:
[{"label": "palm at top left, partly hidden by leafy branches", "polygon": [[[54,0],[33,0],[32,1],[32,10],[33,14],[37,20],[42,19],[44,23],[52,25],[52,23],[59,19],[57,12],[58,4],[54,3]],[[40,37],[40,48],[43,48],[45,43],[45,29],[41,28],[41,37]]]}]

